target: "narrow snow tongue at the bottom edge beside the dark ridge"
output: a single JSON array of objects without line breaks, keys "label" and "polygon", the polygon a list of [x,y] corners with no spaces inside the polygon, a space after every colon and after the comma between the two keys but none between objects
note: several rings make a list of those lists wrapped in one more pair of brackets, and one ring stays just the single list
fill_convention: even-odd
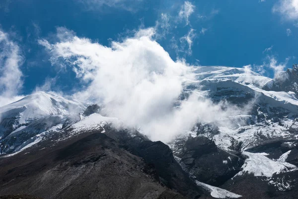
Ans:
[{"label": "narrow snow tongue at the bottom edge beside the dark ridge", "polygon": [[221,189],[221,188],[218,188],[218,187],[213,187],[211,185],[201,183],[199,181],[195,181],[195,182],[198,186],[200,186],[203,189],[210,192],[212,197],[217,198],[217,199],[238,199],[238,198],[242,197],[238,194],[234,194],[232,192],[229,192],[227,190],[224,190],[224,189]]}]

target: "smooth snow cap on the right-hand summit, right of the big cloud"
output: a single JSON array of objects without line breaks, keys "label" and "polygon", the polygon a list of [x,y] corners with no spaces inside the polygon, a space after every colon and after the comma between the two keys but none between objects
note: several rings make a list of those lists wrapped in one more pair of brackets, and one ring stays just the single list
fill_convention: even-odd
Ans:
[{"label": "smooth snow cap on the right-hand summit, right of the big cloud", "polygon": [[[261,76],[249,69],[232,68],[224,66],[200,66],[194,67],[197,83],[203,83],[203,87],[209,87],[202,91],[196,91],[196,95],[206,97],[216,91],[218,87],[239,89],[254,93],[261,101],[273,106],[283,107],[298,113],[298,99],[292,92],[265,91],[261,88],[272,79]],[[192,84],[193,82],[187,82]]]}]

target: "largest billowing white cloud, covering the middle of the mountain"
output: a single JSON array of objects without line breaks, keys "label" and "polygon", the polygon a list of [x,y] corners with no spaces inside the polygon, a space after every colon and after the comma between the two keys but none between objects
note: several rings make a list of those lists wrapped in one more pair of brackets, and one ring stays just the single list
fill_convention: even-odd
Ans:
[{"label": "largest billowing white cloud, covering the middle of the mountain", "polygon": [[79,80],[88,81],[75,98],[103,105],[107,115],[140,128],[152,140],[166,142],[197,120],[215,122],[239,111],[232,106],[223,111],[223,103],[195,95],[173,108],[185,82],[194,78],[193,67],[173,61],[152,34],[152,29],[141,30],[110,47],[77,36],[40,43],[55,59],[68,63]]}]

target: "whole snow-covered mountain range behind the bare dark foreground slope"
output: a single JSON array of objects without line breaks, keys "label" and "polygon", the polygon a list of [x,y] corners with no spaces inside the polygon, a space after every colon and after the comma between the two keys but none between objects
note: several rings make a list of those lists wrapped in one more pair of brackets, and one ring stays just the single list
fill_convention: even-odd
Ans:
[{"label": "whole snow-covered mountain range behind the bare dark foreground slope", "polygon": [[[146,136],[128,129],[121,120],[101,115],[98,105],[87,107],[78,100],[37,92],[0,107],[0,161],[52,151],[83,136],[103,133],[124,150],[153,164],[160,183],[188,198],[195,198],[200,191],[186,192],[181,188],[186,185],[199,186],[214,198],[295,198],[297,70],[294,65],[282,74],[283,79],[271,79],[247,68],[194,68],[195,81],[186,80],[183,98],[195,94],[214,103],[225,101],[243,111],[210,123],[198,121],[166,143],[171,150],[159,142],[149,143]],[[113,130],[115,126],[117,130]],[[151,147],[149,151],[147,147]],[[168,161],[167,166],[151,157],[154,150],[165,154],[161,159]],[[180,166],[173,163],[174,158]],[[186,172],[189,180],[177,174],[179,187],[178,177],[167,172]]]}]

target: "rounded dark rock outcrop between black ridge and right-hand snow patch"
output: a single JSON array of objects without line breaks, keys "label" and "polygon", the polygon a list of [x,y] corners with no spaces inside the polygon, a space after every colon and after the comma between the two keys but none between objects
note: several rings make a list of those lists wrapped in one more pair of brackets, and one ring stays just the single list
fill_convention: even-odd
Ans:
[{"label": "rounded dark rock outcrop between black ridge and right-hand snow patch", "polygon": [[242,158],[218,149],[207,137],[189,138],[179,156],[181,163],[195,180],[213,185],[223,185],[241,170]]}]

